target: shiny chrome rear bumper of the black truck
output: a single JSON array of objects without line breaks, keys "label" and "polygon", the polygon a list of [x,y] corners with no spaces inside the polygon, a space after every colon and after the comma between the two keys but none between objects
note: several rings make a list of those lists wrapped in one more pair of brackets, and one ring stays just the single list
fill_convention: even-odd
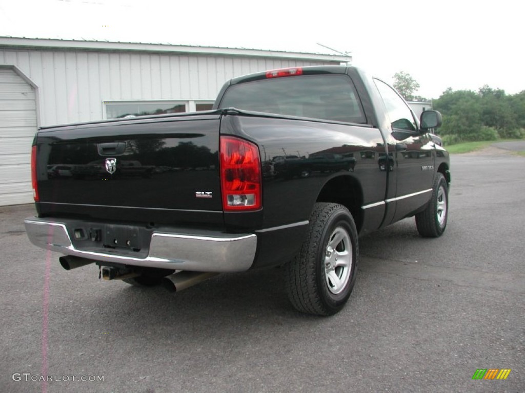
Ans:
[{"label": "shiny chrome rear bumper of the black truck", "polygon": [[131,250],[101,247],[75,248],[67,220],[29,217],[27,236],[35,246],[93,260],[162,269],[234,272],[248,270],[257,249],[255,234],[198,234],[153,232],[148,256],[133,256]]}]

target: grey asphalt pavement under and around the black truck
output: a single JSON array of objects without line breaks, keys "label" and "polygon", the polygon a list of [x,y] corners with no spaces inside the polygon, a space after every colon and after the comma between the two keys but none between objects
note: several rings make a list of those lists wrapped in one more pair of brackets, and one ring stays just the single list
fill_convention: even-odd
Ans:
[{"label": "grey asphalt pavement under and around the black truck", "polygon": [[66,271],[27,240],[33,206],[0,208],[0,392],[525,391],[525,158],[451,166],[445,234],[363,237],[330,318],[296,312],[278,268],[175,294]]}]

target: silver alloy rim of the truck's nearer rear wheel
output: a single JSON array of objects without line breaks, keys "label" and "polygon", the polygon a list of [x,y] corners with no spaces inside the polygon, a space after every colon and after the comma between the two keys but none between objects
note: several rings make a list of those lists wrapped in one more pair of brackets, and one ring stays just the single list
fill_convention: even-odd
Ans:
[{"label": "silver alloy rim of the truck's nearer rear wheel", "polygon": [[324,254],[324,274],[330,292],[338,294],[350,280],[352,270],[352,243],[350,235],[340,226],[330,236]]}]

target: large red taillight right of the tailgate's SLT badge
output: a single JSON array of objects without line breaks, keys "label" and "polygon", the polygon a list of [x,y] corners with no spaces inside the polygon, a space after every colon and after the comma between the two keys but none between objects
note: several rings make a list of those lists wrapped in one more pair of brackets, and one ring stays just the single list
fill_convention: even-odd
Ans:
[{"label": "large red taillight right of the tailgate's SLT badge", "polygon": [[220,137],[220,184],[225,211],[261,208],[260,157],[255,144]]}]

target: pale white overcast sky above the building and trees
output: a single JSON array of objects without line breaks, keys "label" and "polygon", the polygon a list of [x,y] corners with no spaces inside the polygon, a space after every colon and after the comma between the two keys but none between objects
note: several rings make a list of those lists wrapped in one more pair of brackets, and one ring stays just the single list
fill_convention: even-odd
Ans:
[{"label": "pale white overcast sky above the building and trees", "polygon": [[0,36],[330,53],[417,94],[525,90],[525,2],[0,0]]}]

